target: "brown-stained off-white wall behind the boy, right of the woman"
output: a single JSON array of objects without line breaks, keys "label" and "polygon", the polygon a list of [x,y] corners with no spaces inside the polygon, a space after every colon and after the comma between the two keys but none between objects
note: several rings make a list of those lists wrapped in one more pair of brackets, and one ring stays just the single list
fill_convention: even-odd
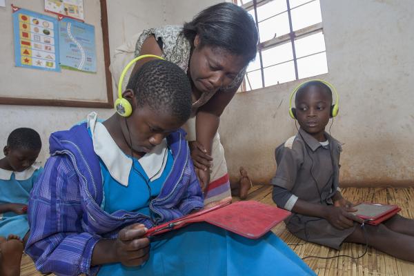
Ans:
[{"label": "brown-stained off-white wall behind the boy, right of the woman", "polygon": [[[329,72],[319,77],[340,95],[332,135],[344,143],[342,184],[414,184],[413,2],[321,0],[321,8]],[[257,181],[273,176],[273,150],[296,132],[286,110],[298,83],[230,103],[220,132],[233,179],[240,165]]]}]

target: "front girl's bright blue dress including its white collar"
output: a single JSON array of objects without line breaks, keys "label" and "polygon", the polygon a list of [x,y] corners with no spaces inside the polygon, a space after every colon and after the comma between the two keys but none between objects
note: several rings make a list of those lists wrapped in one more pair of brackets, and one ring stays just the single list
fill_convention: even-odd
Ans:
[{"label": "front girl's bright blue dress including its white collar", "polygon": [[[101,208],[109,214],[126,210],[156,218],[148,208],[147,184],[151,197],[156,197],[170,175],[174,158],[166,139],[152,154],[135,159],[121,152],[106,128],[96,123],[96,116],[88,120],[88,132],[101,167]],[[260,239],[247,239],[207,223],[197,223],[150,239],[150,258],[145,264],[106,264],[99,268],[98,275],[315,275],[270,232]]]}]

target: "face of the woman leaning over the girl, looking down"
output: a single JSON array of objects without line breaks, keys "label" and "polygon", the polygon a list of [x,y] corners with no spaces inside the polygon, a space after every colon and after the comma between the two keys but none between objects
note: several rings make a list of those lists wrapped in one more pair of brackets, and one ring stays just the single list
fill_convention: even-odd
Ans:
[{"label": "face of the woman leaning over the girl, looking down", "polygon": [[200,46],[198,35],[195,37],[194,47],[189,70],[191,80],[200,92],[217,92],[230,85],[246,65],[243,57],[232,55],[227,50]]}]

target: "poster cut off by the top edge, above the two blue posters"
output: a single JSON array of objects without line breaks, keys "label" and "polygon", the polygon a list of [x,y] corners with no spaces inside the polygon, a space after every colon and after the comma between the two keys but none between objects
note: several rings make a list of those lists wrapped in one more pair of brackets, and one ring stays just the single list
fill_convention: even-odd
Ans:
[{"label": "poster cut off by the top edge, above the two blue posters", "polygon": [[83,0],[45,0],[46,12],[83,21]]}]

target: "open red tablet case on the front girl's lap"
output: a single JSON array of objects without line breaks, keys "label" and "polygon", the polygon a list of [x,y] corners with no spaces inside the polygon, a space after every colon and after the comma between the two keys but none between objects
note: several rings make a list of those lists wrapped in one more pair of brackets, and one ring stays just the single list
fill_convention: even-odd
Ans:
[{"label": "open red tablet case on the front girl's lap", "polygon": [[237,201],[233,204],[226,202],[150,228],[146,237],[205,221],[249,239],[257,239],[289,215],[287,210],[257,201]]}]

